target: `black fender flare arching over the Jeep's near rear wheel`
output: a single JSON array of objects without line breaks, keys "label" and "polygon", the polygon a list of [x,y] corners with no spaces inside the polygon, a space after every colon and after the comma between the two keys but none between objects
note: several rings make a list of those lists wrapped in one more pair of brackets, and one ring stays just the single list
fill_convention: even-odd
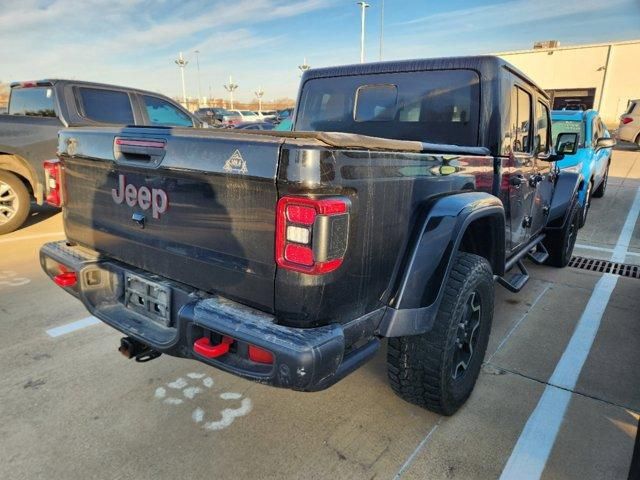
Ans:
[{"label": "black fender flare arching over the Jeep's near rear wheel", "polygon": [[495,222],[490,261],[494,274],[505,264],[505,211],[502,202],[485,192],[440,197],[417,222],[396,274],[394,294],[379,326],[385,337],[416,335],[433,326],[453,259],[467,227],[490,218]]}]

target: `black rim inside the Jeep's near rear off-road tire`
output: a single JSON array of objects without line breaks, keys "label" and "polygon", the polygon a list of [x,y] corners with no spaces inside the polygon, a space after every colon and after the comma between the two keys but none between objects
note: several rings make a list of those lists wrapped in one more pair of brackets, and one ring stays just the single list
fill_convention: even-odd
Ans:
[{"label": "black rim inside the Jeep's near rear off-road tire", "polygon": [[458,322],[451,371],[451,377],[454,380],[461,378],[469,369],[476,344],[478,343],[481,317],[482,303],[480,295],[473,291],[465,302]]}]

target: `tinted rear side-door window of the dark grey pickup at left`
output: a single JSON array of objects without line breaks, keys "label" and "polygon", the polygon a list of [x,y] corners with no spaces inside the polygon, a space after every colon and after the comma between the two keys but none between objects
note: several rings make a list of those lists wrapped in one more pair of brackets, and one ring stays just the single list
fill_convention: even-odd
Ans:
[{"label": "tinted rear side-door window of the dark grey pickup at left", "polygon": [[101,123],[133,124],[133,109],[129,94],[118,90],[77,87],[81,114]]}]

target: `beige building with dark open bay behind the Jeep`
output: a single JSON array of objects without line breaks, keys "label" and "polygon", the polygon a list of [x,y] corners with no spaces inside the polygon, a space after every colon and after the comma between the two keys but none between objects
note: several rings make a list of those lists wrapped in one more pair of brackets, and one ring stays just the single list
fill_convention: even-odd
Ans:
[{"label": "beige building with dark open bay behind the Jeep", "polygon": [[551,95],[553,108],[595,108],[617,127],[629,100],[640,98],[640,40],[562,46],[539,42],[532,50],[496,55],[529,75]]}]

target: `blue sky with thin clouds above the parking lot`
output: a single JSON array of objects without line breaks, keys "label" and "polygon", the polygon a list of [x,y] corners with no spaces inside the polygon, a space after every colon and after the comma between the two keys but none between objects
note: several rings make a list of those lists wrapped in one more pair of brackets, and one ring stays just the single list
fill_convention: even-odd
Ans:
[{"label": "blue sky with thin clouds above the parking lot", "polygon": [[[382,0],[368,0],[366,59],[378,60]],[[3,0],[0,81],[98,80],[177,96],[294,97],[297,66],[355,63],[355,0]],[[640,0],[385,0],[384,59],[472,55],[640,38]]]}]

